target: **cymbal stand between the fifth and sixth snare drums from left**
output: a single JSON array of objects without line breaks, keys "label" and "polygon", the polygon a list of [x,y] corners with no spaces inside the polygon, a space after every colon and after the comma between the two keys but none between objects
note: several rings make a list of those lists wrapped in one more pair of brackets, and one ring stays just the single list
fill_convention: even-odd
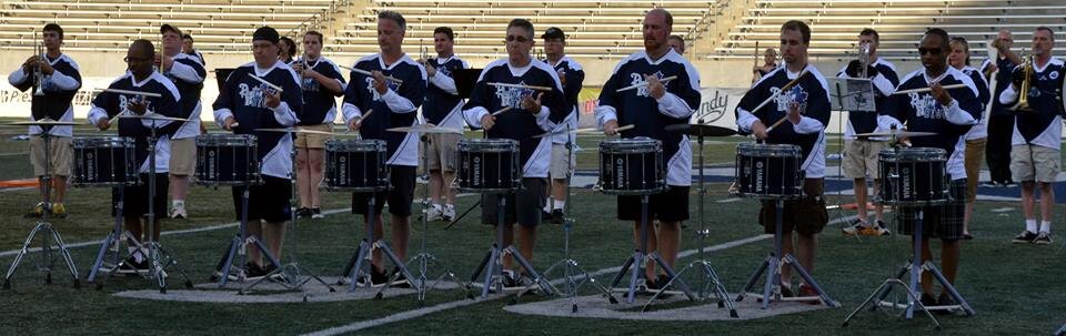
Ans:
[{"label": "cymbal stand between the fifth and sixth snare drums from left", "polygon": [[[733,301],[730,299],[730,293],[725,291],[725,285],[722,284],[718,273],[714,271],[714,267],[711,267],[711,262],[706,259],[703,251],[707,245],[707,236],[711,235],[711,231],[706,228],[706,221],[703,217],[703,203],[704,197],[707,194],[706,187],[704,187],[704,173],[703,173],[703,133],[696,134],[696,144],[700,149],[700,190],[697,194],[700,195],[700,231],[696,231],[696,235],[700,236],[700,258],[688,263],[687,266],[677,272],[677,276],[672,277],[664,287],[668,287],[674,279],[680,279],[682,274],[688,272],[688,269],[697,268],[703,271],[703,279],[705,285],[700,287],[698,297],[706,299],[710,298],[707,292],[714,293],[714,296],[718,298],[718,307],[727,307],[730,309],[730,317],[737,318],[740,315],[736,314],[736,308],[733,307]],[[651,307],[651,304],[660,297],[663,292],[655,293],[652,296],[652,299],[644,305],[644,310]]]}]

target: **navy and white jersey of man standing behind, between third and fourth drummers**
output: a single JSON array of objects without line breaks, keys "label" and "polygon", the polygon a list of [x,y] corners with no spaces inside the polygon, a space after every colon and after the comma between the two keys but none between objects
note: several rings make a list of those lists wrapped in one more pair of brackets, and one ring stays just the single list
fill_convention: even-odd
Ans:
[{"label": "navy and white jersey of man standing behind, between third and fourth drummers", "polygon": [[422,119],[438,126],[462,130],[464,102],[459,96],[453,74],[470,69],[470,64],[454,54],[446,59],[429,59],[426,62],[436,68],[436,74],[430,78],[430,86],[425,91]]}]

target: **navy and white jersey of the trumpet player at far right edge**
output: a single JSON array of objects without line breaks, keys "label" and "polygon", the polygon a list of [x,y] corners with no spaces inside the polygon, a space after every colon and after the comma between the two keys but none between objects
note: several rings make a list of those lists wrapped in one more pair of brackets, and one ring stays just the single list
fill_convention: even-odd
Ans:
[{"label": "navy and white jersey of the trumpet player at far right edge", "polygon": [[[1028,92],[1029,108],[1033,111],[1019,111],[1014,113],[1014,136],[1010,144],[1035,144],[1049,149],[1058,150],[1062,146],[1059,138],[1063,134],[1063,113],[1066,109],[1063,106],[1064,69],[1063,60],[1052,57],[1044,67],[1033,64],[1033,74],[1036,81],[1030,83]],[[1015,67],[1014,71],[1024,71],[1022,67]],[[1014,85],[1009,85],[999,94],[999,102],[1006,106],[1012,106],[1018,101],[1018,92]]]}]

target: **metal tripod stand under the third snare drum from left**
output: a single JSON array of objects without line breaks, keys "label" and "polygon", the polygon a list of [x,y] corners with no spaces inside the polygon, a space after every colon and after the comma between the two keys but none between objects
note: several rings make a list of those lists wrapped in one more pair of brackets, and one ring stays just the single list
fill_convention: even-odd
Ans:
[{"label": "metal tripod stand under the third snare drum from left", "polygon": [[[423,289],[420,287],[420,284],[416,284],[412,281],[414,276],[411,275],[411,271],[408,269],[406,264],[404,264],[403,259],[401,259],[400,256],[398,256],[396,253],[389,247],[389,244],[385,243],[384,231],[382,231],[382,238],[374,241],[374,222],[378,220],[378,216],[374,213],[374,206],[376,205],[376,201],[374,200],[376,197],[374,197],[374,194],[375,192],[366,193],[366,237],[359,242],[359,248],[356,248],[355,253],[352,254],[352,258],[344,264],[344,271],[341,272],[340,279],[336,282],[336,284],[343,285],[344,277],[348,276],[352,282],[348,287],[348,292],[355,292],[355,287],[359,286],[359,282],[356,279],[362,274],[363,276],[368,277],[368,287],[373,287],[373,277],[371,276],[371,273],[373,272],[374,264],[369,261],[372,259],[374,248],[381,248],[381,251],[384,252],[385,257],[392,261],[392,264],[395,265],[396,268],[400,268],[400,272],[403,274],[403,276],[408,278],[408,283],[410,283],[421,293]],[[370,268],[370,272],[363,271],[363,263],[368,264],[365,266]],[[386,269],[383,271],[388,272]],[[385,282],[384,287],[392,285],[392,279],[393,277],[390,277],[389,281]],[[379,291],[374,298],[381,297],[382,292]]]}]

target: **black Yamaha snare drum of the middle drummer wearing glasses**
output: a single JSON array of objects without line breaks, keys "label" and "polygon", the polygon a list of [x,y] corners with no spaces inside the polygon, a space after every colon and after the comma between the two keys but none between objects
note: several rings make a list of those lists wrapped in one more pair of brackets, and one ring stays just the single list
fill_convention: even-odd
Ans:
[{"label": "black Yamaha snare drum of the middle drummer wearing glasses", "polygon": [[463,139],[459,141],[459,174],[462,192],[502,193],[519,190],[522,177],[519,142],[511,139]]}]

